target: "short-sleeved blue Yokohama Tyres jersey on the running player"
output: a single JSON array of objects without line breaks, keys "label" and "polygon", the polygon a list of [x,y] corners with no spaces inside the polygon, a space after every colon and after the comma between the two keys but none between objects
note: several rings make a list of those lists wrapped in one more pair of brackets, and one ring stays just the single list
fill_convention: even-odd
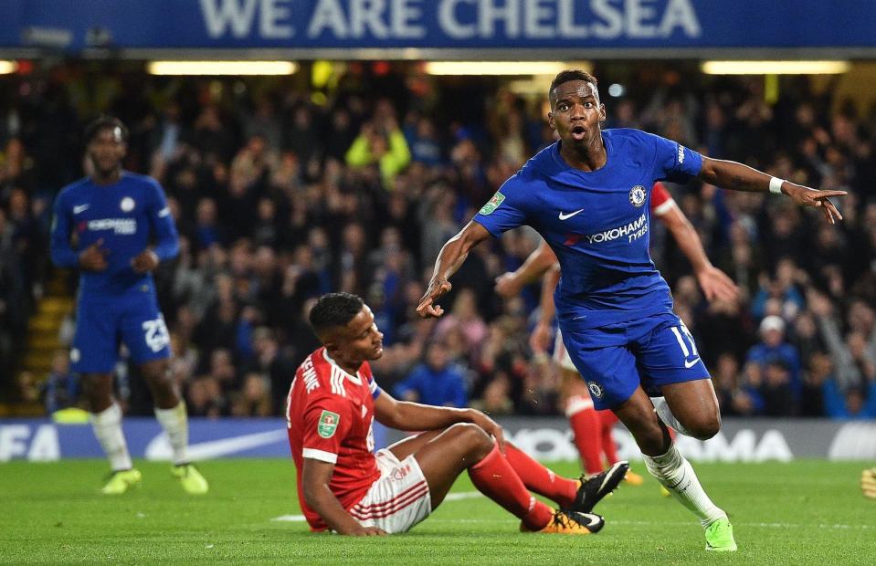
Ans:
[{"label": "short-sleeved blue Yokohama Tyres jersey on the running player", "polygon": [[538,152],[474,216],[492,236],[530,225],[554,249],[562,278],[554,294],[566,330],[636,320],[672,308],[649,255],[649,199],[656,181],[686,182],[702,156],[639,130],[602,132],[607,162],[570,167],[556,142]]}]

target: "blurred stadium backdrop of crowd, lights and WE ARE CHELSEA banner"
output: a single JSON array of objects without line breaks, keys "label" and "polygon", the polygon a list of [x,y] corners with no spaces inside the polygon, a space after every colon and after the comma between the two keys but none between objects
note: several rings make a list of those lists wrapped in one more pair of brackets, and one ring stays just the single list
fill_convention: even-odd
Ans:
[{"label": "blurred stadium backdrop of crowd, lights and WE ARE CHELSEA banner", "polygon": [[[871,3],[5,4],[0,416],[79,406],[77,276],[51,266],[47,234],[55,195],[83,174],[83,126],[101,113],[131,129],[125,167],[162,183],[181,236],[155,278],[189,414],[279,416],[318,346],[308,309],[343,290],[385,333],[373,366],[387,391],[562,415],[554,368],[528,347],[539,286],[515,299],[493,288],[538,245],[532,230],[480,246],[441,320],[414,308],[444,242],[554,142],[554,74],[583,68],[599,79],[606,127],[850,192],[832,226],[785,198],[668,183],[741,288],[734,303],[702,298],[659,222],[650,245],[724,414],[876,418]],[[127,362],[117,375],[126,414],[151,415]],[[417,387],[429,380],[452,394]]]}]

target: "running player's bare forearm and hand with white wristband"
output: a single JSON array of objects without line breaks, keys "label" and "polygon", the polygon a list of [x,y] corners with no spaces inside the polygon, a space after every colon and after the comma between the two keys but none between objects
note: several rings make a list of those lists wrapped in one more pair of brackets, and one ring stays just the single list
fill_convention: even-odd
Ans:
[{"label": "running player's bare forearm and hand with white wristband", "polygon": [[839,214],[837,207],[829,201],[829,198],[843,196],[847,194],[845,191],[817,191],[801,184],[776,179],[776,177],[761,173],[742,163],[712,159],[711,157],[702,158],[702,169],[697,177],[706,183],[734,191],[781,192],[790,196],[791,200],[797,204],[820,208],[830,224],[842,220],[842,215]]}]

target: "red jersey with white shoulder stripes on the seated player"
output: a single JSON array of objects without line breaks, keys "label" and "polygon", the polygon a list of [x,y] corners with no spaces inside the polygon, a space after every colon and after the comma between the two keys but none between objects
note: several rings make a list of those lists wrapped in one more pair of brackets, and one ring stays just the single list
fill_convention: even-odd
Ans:
[{"label": "red jersey with white shoulder stripes on the seated player", "polygon": [[349,510],[364,498],[380,477],[372,453],[375,399],[380,393],[368,362],[351,375],[325,348],[313,351],[295,372],[286,400],[286,425],[298,470],[298,500],[312,530],[328,525],[304,501],[304,458],[334,464],[329,488],[343,508]]}]

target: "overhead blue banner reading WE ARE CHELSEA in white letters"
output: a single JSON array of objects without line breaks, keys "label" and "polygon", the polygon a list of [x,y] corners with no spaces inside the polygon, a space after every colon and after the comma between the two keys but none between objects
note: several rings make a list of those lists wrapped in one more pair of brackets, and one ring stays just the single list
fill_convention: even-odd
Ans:
[{"label": "overhead blue banner reading WE ARE CHELSEA in white letters", "polygon": [[872,0],[4,0],[0,5],[0,47],[74,52],[876,46]]}]

